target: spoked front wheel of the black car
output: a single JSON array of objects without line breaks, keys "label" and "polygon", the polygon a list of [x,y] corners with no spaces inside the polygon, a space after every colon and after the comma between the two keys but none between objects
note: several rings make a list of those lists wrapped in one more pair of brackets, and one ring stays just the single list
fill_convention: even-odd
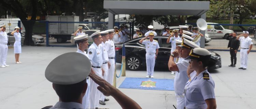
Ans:
[{"label": "spoked front wheel of the black car", "polygon": [[137,56],[130,56],[126,60],[126,67],[131,71],[137,71],[142,66],[141,59]]}]

